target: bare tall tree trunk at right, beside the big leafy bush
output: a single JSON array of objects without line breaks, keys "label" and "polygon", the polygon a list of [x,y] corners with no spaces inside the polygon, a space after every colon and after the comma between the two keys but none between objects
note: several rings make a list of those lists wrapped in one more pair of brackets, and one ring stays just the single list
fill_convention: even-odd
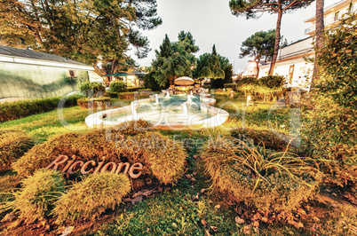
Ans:
[{"label": "bare tall tree trunk at right, beside the big leafy bush", "polygon": [[323,2],[324,0],[316,0],[316,45],[315,45],[315,62],[313,64],[313,78],[310,84],[310,91],[314,87],[315,81],[319,78],[319,65],[317,63],[317,59],[320,56],[319,50],[323,47],[323,31],[324,31],[324,23],[323,23]]}]

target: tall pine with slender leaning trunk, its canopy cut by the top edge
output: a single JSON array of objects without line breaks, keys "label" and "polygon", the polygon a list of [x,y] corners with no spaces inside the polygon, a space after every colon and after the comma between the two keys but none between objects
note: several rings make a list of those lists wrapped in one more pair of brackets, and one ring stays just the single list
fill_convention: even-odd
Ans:
[{"label": "tall pine with slender leaning trunk, its canopy cut by the top edge", "polygon": [[260,12],[277,13],[278,20],[275,28],[275,42],[272,62],[270,64],[269,75],[273,75],[276,58],[279,51],[281,39],[280,29],[282,26],[282,13],[291,12],[298,8],[305,8],[313,0],[230,0],[229,7],[235,16],[245,15],[247,19],[259,18]]}]

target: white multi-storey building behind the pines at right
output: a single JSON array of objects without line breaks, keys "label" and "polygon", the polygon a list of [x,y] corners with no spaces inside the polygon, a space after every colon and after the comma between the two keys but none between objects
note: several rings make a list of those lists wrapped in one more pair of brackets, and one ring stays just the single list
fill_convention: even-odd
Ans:
[{"label": "white multi-storey building behind the pines at right", "polygon": [[[353,0],[352,11],[356,10],[357,0]],[[336,27],[341,17],[345,12],[349,11],[351,0],[342,0],[336,4],[332,4],[324,9],[324,25],[325,28]],[[290,43],[290,45],[282,48],[278,52],[274,67],[274,75],[283,75],[286,78],[287,86],[301,87],[309,89],[309,83],[313,75],[313,63],[308,62],[307,58],[314,57],[313,51],[313,35],[315,34],[315,17],[305,20],[305,23],[310,23],[311,26],[305,29],[305,39],[298,42]],[[259,76],[268,75],[270,64],[260,67]]]}]

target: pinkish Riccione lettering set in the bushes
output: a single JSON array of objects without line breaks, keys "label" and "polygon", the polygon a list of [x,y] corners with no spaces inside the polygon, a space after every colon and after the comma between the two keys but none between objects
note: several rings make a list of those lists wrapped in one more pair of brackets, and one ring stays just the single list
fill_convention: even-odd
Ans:
[{"label": "pinkish Riccione lettering set in the bushes", "polygon": [[[64,164],[67,161],[67,165],[62,169],[61,173],[68,173],[68,174],[73,174],[75,171],[80,170],[83,175],[86,175],[90,172],[93,174],[98,173],[99,171],[101,173],[104,173],[107,171],[107,169],[110,169],[111,173],[119,174],[123,167],[124,171],[123,174],[126,175],[129,172],[129,176],[131,178],[137,178],[141,175],[141,169],[143,169],[143,164],[136,162],[130,166],[129,162],[120,162],[119,164],[116,164],[115,162],[107,162],[104,165],[104,160],[105,157],[102,158],[103,161],[97,162],[96,161],[87,161],[84,163],[84,161],[67,161],[68,156],[67,155],[59,155],[50,165],[46,167],[46,169],[53,169],[57,170],[59,169],[59,165]],[[90,167],[91,165],[91,167]],[[103,166],[104,165],[104,166]],[[96,167],[97,166],[97,167]],[[94,168],[95,167],[95,168]],[[139,172],[137,174],[134,174],[134,170],[138,170]]]}]

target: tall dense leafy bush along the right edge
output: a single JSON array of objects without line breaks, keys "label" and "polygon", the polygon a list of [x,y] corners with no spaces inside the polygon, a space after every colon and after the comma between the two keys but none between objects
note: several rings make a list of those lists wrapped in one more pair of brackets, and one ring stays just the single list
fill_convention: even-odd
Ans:
[{"label": "tall dense leafy bush along the right edge", "polygon": [[357,187],[357,12],[330,29],[317,63],[320,80],[315,81],[313,109],[305,110],[302,144],[319,162],[329,181]]}]

